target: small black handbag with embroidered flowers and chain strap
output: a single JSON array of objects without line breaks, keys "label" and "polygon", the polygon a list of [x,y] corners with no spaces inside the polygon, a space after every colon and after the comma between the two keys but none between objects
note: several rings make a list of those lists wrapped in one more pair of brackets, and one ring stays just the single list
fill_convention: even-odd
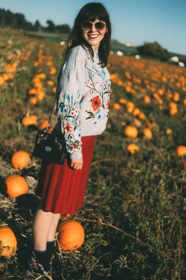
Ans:
[{"label": "small black handbag with embroidered flowers and chain strap", "polygon": [[[55,102],[56,98],[54,100],[54,104]],[[49,118],[49,122],[51,119],[51,115]],[[63,140],[63,135],[62,133],[48,130],[49,122],[47,128],[44,129],[44,131],[37,132],[32,155],[35,157],[39,157],[42,160],[47,160],[49,162],[64,164],[67,151],[65,147],[65,142]]]}]

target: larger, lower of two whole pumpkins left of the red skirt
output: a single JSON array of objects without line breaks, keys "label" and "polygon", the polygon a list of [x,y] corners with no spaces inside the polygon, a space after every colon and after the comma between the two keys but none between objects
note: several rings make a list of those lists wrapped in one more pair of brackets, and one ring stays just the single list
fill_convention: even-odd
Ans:
[{"label": "larger, lower of two whole pumpkins left of the red skirt", "polygon": [[22,176],[14,174],[6,178],[1,188],[7,195],[18,197],[19,195],[24,195],[28,191],[28,184]]}]

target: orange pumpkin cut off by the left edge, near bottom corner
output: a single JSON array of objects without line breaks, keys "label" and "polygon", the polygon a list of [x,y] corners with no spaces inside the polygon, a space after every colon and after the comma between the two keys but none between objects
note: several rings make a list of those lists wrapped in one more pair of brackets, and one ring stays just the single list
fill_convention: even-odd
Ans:
[{"label": "orange pumpkin cut off by the left edge, near bottom corner", "polygon": [[17,249],[17,240],[13,231],[8,226],[0,227],[0,253],[6,258],[14,255]]}]

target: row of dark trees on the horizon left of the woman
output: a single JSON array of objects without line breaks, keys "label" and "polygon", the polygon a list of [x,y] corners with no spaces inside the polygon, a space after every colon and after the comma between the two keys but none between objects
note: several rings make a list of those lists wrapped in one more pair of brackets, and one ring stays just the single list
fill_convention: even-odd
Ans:
[{"label": "row of dark trees on the horizon left of the woman", "polygon": [[5,10],[0,8],[0,27],[10,28],[17,30],[27,30],[27,31],[50,31],[57,33],[70,33],[71,29],[68,24],[55,25],[52,20],[47,20],[47,26],[43,27],[39,20],[36,20],[33,24],[26,20],[22,13],[12,13],[10,10]]}]

